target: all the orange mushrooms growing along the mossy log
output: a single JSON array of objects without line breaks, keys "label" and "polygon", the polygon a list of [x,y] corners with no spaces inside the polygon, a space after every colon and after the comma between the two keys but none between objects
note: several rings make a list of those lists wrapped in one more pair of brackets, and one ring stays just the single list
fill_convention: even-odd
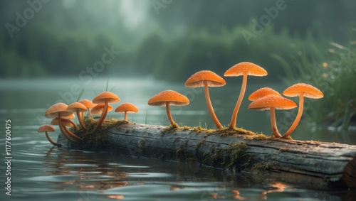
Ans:
[{"label": "all the orange mushrooms growing along the mossy log", "polygon": [[[229,70],[226,70],[226,72],[224,73],[225,77],[240,75],[243,76],[241,92],[239,94],[239,99],[237,99],[234,112],[231,116],[229,129],[236,128],[236,118],[239,112],[241,102],[244,99],[244,94],[247,85],[247,76],[253,75],[262,77],[267,75],[267,71],[264,70],[263,67],[260,67],[254,63],[242,62],[230,67]],[[224,126],[222,126],[219,122],[219,119],[216,117],[214,109],[211,105],[209,87],[222,87],[224,85],[226,85],[226,81],[219,75],[216,75],[216,73],[211,72],[210,70],[201,70],[199,72],[196,72],[194,73],[194,75],[189,77],[187,82],[185,82],[185,87],[204,87],[206,105],[209,109],[211,118],[213,119],[214,124],[218,129],[222,129],[224,128]],[[248,100],[253,101],[251,102],[251,104],[248,105],[248,109],[270,110],[272,134],[276,138],[288,138],[288,136],[290,136],[290,134],[294,131],[303,114],[304,97],[320,99],[323,97],[323,92],[311,85],[298,83],[285,89],[283,91],[283,95],[285,95],[286,97],[299,97],[298,114],[295,117],[293,124],[290,126],[288,131],[286,131],[286,134],[283,134],[283,136],[279,133],[277,129],[275,109],[293,109],[297,107],[297,104],[295,104],[295,102],[290,99],[282,97],[280,93],[269,87],[263,87],[261,89],[258,89],[256,90],[256,92],[253,92],[248,97]],[[93,99],[93,102],[88,99],[83,99],[80,102],[75,102],[68,106],[64,103],[54,104],[52,107],[47,109],[45,116],[48,118],[54,118],[51,124],[58,125],[63,135],[66,136],[68,140],[75,142],[81,139],[66,128],[66,126],[74,126],[75,129],[78,130],[78,126],[72,120],[70,120],[70,118],[74,118],[74,112],[77,114],[80,126],[83,129],[86,129],[83,123],[84,112],[88,111],[88,114],[90,115],[90,118],[92,120],[92,114],[101,114],[100,119],[97,123],[97,128],[100,128],[103,124],[103,121],[105,120],[106,115],[112,110],[112,107],[109,105],[109,103],[119,101],[120,99],[119,97],[117,97],[117,95],[113,94],[112,92],[106,91],[95,97]],[[189,99],[183,94],[169,89],[155,94],[155,96],[148,100],[148,104],[152,106],[165,106],[171,126],[178,128],[178,124],[175,123],[172,118],[169,106],[187,105],[189,104]],[[124,103],[117,107],[117,109],[115,109],[115,112],[125,112],[124,120],[127,121],[127,113],[138,112],[138,109],[137,107],[135,107],[134,104]],[[53,143],[53,145],[55,146],[60,146],[58,143],[55,143],[53,140],[51,140],[51,138],[47,134],[48,131],[54,131],[51,125],[43,125],[38,129],[38,131],[46,132],[48,141]]]}]

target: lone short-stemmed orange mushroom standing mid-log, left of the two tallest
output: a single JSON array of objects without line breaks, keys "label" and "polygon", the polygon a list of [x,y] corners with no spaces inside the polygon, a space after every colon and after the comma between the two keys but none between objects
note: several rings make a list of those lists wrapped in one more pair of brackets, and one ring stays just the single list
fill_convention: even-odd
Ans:
[{"label": "lone short-stemmed orange mushroom standing mid-log, left of the two tallest", "polygon": [[164,90],[155,94],[148,100],[148,104],[152,106],[165,106],[167,111],[167,116],[171,125],[178,128],[178,124],[174,122],[169,105],[183,106],[189,104],[189,99],[183,94],[179,94],[173,90]]}]

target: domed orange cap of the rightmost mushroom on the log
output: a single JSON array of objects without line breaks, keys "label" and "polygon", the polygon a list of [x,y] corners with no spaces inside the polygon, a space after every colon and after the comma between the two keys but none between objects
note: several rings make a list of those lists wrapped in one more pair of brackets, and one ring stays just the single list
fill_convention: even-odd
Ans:
[{"label": "domed orange cap of the rightmost mushroom on the log", "polygon": [[321,99],[324,97],[323,92],[321,92],[318,88],[305,83],[298,83],[288,87],[284,90],[283,95],[286,97],[298,97],[300,93],[303,93],[304,97],[312,99]]}]

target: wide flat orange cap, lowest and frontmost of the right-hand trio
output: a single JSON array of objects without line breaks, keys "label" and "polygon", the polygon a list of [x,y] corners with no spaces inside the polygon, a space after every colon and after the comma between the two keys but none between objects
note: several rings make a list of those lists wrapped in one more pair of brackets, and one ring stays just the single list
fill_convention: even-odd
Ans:
[{"label": "wide flat orange cap, lowest and frontmost of the right-hand trio", "polygon": [[275,109],[293,109],[297,107],[297,104],[290,99],[271,94],[256,99],[248,105],[248,109],[254,110],[266,110],[271,107],[274,107]]}]

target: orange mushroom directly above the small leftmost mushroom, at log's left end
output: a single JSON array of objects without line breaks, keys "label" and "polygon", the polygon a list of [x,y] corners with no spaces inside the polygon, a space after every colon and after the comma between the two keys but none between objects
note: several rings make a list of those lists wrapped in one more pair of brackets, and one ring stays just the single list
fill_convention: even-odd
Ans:
[{"label": "orange mushroom directly above the small leftmost mushroom, at log's left end", "polygon": [[51,107],[49,107],[46,110],[45,116],[47,118],[58,118],[59,121],[59,129],[61,129],[61,132],[64,136],[66,136],[66,138],[68,138],[68,140],[75,142],[72,138],[70,138],[70,136],[72,136],[73,138],[76,138],[78,140],[81,140],[80,137],[76,136],[75,134],[73,134],[72,132],[70,132],[66,126],[63,126],[62,124],[62,119],[63,116],[69,116],[70,114],[73,114],[72,112],[68,112],[67,111],[67,104],[64,104],[62,102],[58,102],[56,104],[53,104]]}]

